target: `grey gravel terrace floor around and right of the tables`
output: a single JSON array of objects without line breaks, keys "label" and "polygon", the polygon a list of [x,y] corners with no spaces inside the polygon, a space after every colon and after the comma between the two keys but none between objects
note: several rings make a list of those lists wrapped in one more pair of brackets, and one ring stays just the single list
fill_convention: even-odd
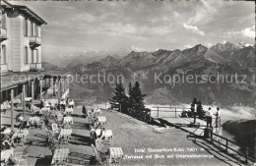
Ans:
[{"label": "grey gravel terrace floor around and right of the tables", "polygon": [[[15,115],[18,113],[19,111],[16,110]],[[27,113],[27,117],[29,116],[30,114]],[[154,133],[153,126],[121,113],[103,110],[100,116],[106,117],[105,129],[113,132],[110,146],[122,147],[124,159],[121,160],[121,165],[241,165],[235,159],[222,153],[218,148],[202,140],[187,139],[188,134],[179,129],[170,128],[163,134],[157,134]],[[91,147],[90,133],[87,129],[88,120],[82,117],[81,106],[74,108],[72,117],[74,124],[71,140],[68,144],[70,149],[69,162],[66,164],[96,165],[96,157]],[[10,125],[10,111],[6,114],[1,113],[1,124]],[[52,154],[45,147],[45,138],[46,133],[44,131],[39,129],[30,130],[27,140],[32,140],[32,148],[28,165],[50,165]],[[25,147],[26,145],[15,147],[14,151],[23,151]],[[165,148],[172,150],[172,152],[149,152],[148,148]],[[136,152],[135,149],[145,149],[145,152]],[[204,157],[177,158],[176,155],[178,154],[202,155]],[[146,155],[149,158],[146,158]],[[164,155],[164,158],[161,158],[162,155]],[[136,158],[140,156],[143,156],[143,158]]]}]

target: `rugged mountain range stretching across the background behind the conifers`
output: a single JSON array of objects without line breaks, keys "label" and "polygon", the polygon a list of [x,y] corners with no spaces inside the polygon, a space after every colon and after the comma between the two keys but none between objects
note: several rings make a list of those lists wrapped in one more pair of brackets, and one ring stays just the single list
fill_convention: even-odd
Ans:
[{"label": "rugged mountain range stretching across the background behind the conifers", "polygon": [[[74,61],[73,61],[74,62]],[[147,101],[153,104],[189,103],[197,97],[204,103],[220,103],[244,105],[256,104],[256,55],[255,45],[230,42],[218,43],[208,48],[202,44],[184,50],[159,49],[155,52],[132,51],[124,57],[106,56],[93,63],[71,62],[67,69],[79,74],[122,74],[125,86],[139,81],[143,91],[148,95]],[[83,71],[81,68],[83,67]],[[138,73],[137,78],[132,77]],[[142,74],[147,74],[143,76]],[[156,74],[160,80],[164,76],[188,75],[224,75],[227,80],[234,74],[246,76],[243,83],[156,83]],[[145,78],[146,77],[146,78]],[[224,78],[221,78],[224,80]],[[242,78],[240,77],[239,80]],[[172,80],[173,82],[173,80]],[[109,98],[113,83],[80,84],[85,88],[101,89],[100,93]],[[164,92],[167,91],[167,92]],[[83,97],[77,93],[79,97]],[[92,95],[92,93],[83,95]],[[159,96],[159,97],[156,97]],[[166,103],[169,101],[169,103]]]}]

